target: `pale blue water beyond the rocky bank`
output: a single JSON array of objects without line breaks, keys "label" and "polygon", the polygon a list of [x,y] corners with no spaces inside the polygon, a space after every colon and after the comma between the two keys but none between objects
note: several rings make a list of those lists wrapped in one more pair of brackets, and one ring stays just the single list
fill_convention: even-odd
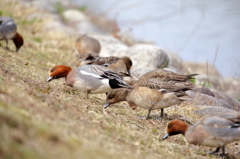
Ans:
[{"label": "pale blue water beyond the rocky bank", "polygon": [[209,62],[223,77],[240,77],[239,0],[72,0],[93,14],[115,19],[121,31],[177,53]]}]

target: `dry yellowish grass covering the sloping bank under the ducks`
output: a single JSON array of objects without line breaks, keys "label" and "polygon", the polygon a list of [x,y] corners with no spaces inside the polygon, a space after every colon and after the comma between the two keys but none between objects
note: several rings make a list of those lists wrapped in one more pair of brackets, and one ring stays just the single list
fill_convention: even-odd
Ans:
[{"label": "dry yellowish grass covering the sloping bank under the ducks", "polygon": [[[47,83],[53,65],[74,65],[74,37],[48,37],[43,20],[26,23],[34,8],[8,0],[0,6],[25,38],[19,53],[0,48],[0,158],[215,158],[207,147],[188,146],[181,135],[161,141],[168,120],[137,119],[145,109],[120,103],[103,110],[105,95],[86,99],[63,79]],[[166,112],[198,118],[187,106]]]}]

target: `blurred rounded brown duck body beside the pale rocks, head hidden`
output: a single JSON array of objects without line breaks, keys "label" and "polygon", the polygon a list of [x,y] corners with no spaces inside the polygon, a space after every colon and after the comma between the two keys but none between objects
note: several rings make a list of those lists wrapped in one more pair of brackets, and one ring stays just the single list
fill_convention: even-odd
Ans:
[{"label": "blurred rounded brown duck body beside the pale rocks, head hidden", "polygon": [[80,35],[75,42],[75,49],[79,54],[100,53],[101,45],[95,38],[87,35]]}]

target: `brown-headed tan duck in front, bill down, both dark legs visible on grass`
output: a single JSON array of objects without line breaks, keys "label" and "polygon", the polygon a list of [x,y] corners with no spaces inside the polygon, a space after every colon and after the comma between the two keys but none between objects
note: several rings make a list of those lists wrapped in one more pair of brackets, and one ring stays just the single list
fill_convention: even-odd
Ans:
[{"label": "brown-headed tan duck in front, bill down, both dark legs visible on grass", "polygon": [[151,110],[161,109],[160,118],[163,118],[164,108],[181,103],[184,100],[188,100],[188,96],[184,90],[188,90],[191,87],[176,87],[170,86],[167,83],[167,87],[171,87],[174,91],[166,90],[164,84],[159,85],[158,89],[151,89],[146,86],[135,86],[133,89],[115,89],[111,90],[106,97],[106,103],[103,106],[107,108],[109,105],[118,103],[121,101],[127,101],[130,106],[137,105],[139,107],[148,109],[146,119],[150,118]]}]

